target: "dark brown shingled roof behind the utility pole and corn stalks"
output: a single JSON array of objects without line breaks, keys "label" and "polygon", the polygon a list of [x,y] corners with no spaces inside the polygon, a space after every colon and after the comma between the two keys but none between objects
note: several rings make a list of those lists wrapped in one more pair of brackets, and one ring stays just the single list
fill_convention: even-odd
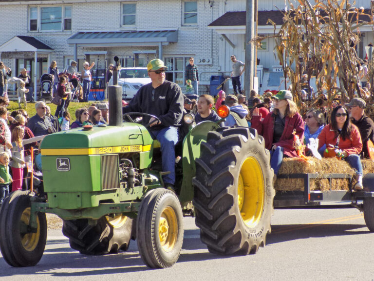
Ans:
[{"label": "dark brown shingled roof behind the utility pole and corn stalks", "polygon": [[[273,20],[275,24],[283,24],[284,11],[258,11],[258,25],[266,24],[267,20]],[[364,13],[367,15],[359,15],[358,20],[370,21],[370,9],[365,9]],[[325,16],[321,13],[321,16]],[[354,15],[351,15],[354,16]],[[353,20],[354,21],[354,20]],[[245,26],[245,11],[244,12],[227,12],[217,20],[214,20],[208,26]]]}]

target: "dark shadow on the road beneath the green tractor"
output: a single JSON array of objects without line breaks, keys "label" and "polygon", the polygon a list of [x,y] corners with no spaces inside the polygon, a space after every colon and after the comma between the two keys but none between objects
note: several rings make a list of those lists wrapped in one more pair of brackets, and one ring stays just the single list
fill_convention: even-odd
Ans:
[{"label": "dark shadow on the road beneath the green tractor", "polygon": [[[185,230],[184,235],[182,253],[178,262],[227,258],[207,252],[206,245],[200,241],[200,230],[188,229]],[[3,258],[0,258],[0,276],[40,276],[44,274],[56,277],[74,277],[153,270],[147,267],[140,258],[136,241],[131,241],[127,252],[103,256],[81,255],[74,249],[67,247],[68,243],[67,239],[48,240],[47,246],[50,245],[53,248],[45,249],[41,261],[33,267],[11,267],[6,264]],[[190,253],[190,251],[196,252]]]}]

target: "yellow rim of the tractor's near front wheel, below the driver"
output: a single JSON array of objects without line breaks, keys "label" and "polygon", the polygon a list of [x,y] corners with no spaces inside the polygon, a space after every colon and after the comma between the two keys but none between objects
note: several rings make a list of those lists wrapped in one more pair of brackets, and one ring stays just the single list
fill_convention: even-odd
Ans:
[{"label": "yellow rim of the tractor's near front wheel, below the driver", "polygon": [[166,207],[162,211],[158,225],[158,237],[164,251],[170,252],[174,248],[178,237],[178,221],[175,211],[171,207]]}]

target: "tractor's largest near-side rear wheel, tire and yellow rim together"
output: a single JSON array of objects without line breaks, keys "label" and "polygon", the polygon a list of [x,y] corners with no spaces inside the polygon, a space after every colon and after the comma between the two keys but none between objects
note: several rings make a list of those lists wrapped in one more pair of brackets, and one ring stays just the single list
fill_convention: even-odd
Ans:
[{"label": "tractor's largest near-side rear wheel, tire and yellow rim together", "polygon": [[271,232],[274,172],[270,153],[251,128],[209,132],[193,178],[196,225],[209,252],[255,254]]}]

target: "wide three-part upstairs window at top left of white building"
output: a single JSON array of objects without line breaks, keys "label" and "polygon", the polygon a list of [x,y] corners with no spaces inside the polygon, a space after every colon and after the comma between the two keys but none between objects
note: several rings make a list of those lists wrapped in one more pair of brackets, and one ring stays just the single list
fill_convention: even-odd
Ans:
[{"label": "wide three-part upstairs window at top left of white building", "polygon": [[72,6],[38,6],[29,8],[30,31],[72,30]]}]

